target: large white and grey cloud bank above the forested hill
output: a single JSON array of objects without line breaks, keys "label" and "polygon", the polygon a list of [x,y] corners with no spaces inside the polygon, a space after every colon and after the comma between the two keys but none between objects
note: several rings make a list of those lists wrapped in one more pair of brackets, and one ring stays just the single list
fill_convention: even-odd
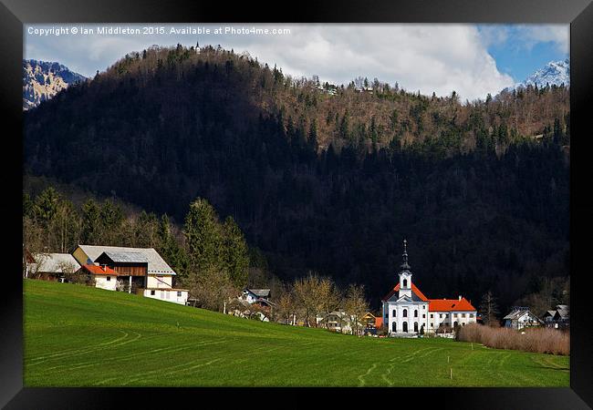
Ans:
[{"label": "large white and grey cloud bank above the forested hill", "polygon": [[[162,25],[171,27],[170,25]],[[181,26],[181,25],[176,25]],[[187,26],[187,25],[184,25]],[[198,25],[192,25],[198,26]],[[220,25],[200,25],[211,28]],[[223,25],[224,26],[224,25]],[[229,25],[245,26],[252,25]],[[277,25],[256,27],[278,28]],[[235,52],[248,51],[262,63],[276,64],[285,74],[319,76],[321,81],[348,84],[355,77],[377,77],[409,91],[484,98],[514,84],[498,71],[488,54],[488,42],[504,41],[502,31],[484,31],[471,25],[281,25],[290,34],[276,36],[26,36],[26,58],[43,55],[92,75],[131,51],[159,45],[220,44]],[[530,32],[534,39],[543,36]],[[39,50],[44,50],[39,52]]]}]

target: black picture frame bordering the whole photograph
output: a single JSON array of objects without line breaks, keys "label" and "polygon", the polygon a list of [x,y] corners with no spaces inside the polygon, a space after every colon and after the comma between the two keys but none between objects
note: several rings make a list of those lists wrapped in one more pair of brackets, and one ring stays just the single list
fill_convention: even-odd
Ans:
[{"label": "black picture frame bordering the whole photograph", "polygon": [[[322,4],[291,4],[284,9],[278,2],[257,5],[248,2],[225,6],[219,2],[183,2],[173,0],[117,0],[102,2],[57,0],[3,0],[0,5],[2,63],[0,63],[0,104],[3,113],[6,190],[2,210],[14,215],[14,230],[5,235],[5,254],[10,263],[5,268],[9,283],[0,297],[3,313],[0,331],[0,405],[5,408],[109,408],[123,406],[127,400],[135,406],[199,406],[207,398],[213,405],[241,405],[236,398],[258,393],[265,405],[291,405],[312,398],[330,397],[334,403],[359,405],[431,405],[456,408],[501,409],[578,409],[593,407],[593,338],[588,315],[586,286],[590,265],[591,210],[587,200],[590,166],[585,156],[590,151],[587,131],[593,91],[593,5],[591,0],[380,0],[359,3],[332,0]],[[265,13],[265,14],[264,14]],[[23,288],[16,272],[21,269],[21,245],[16,232],[22,233],[19,212],[22,198],[22,83],[23,25],[34,23],[141,23],[141,22],[283,22],[283,23],[535,23],[570,24],[571,59],[571,194],[570,194],[570,286],[571,355],[568,388],[398,388],[393,392],[370,389],[344,392],[344,389],[265,389],[244,392],[240,389],[202,388],[24,388],[23,387]],[[17,163],[20,161],[20,166]],[[17,175],[19,174],[20,175]],[[20,182],[19,182],[20,181]],[[578,193],[577,193],[578,192]],[[11,227],[12,228],[12,227]],[[8,233],[8,232],[6,232]],[[430,369],[426,369],[430,374]],[[227,390],[229,391],[227,393]],[[229,394],[230,393],[230,394]],[[235,393],[233,395],[232,393]],[[273,394],[274,398],[268,395]],[[207,398],[206,398],[207,396]],[[255,396],[253,396],[255,398]]]}]

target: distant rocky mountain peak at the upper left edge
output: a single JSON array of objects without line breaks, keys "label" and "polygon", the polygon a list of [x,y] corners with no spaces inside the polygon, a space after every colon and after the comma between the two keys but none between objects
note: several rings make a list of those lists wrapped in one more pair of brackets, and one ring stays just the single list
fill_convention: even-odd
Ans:
[{"label": "distant rocky mountain peak at the upper left edge", "polygon": [[86,79],[56,62],[23,60],[23,109],[35,108],[69,85]]}]

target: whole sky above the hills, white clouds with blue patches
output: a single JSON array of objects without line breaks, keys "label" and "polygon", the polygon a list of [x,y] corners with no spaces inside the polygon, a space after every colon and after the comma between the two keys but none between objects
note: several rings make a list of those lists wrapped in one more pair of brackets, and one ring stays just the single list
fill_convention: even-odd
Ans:
[{"label": "whole sky above the hills, white clouds with blue patches", "polygon": [[[103,71],[126,53],[151,45],[201,46],[211,44],[248,52],[260,62],[281,67],[293,77],[317,75],[321,81],[348,84],[356,77],[377,77],[409,91],[483,98],[523,81],[549,61],[568,56],[568,25],[109,25],[162,27],[162,34],[99,34],[108,25],[32,25],[24,27],[25,58],[57,61],[84,76]],[[186,27],[210,33],[180,34]],[[76,27],[77,33],[71,29]],[[282,35],[228,33],[284,28]],[[67,29],[67,34],[41,32]],[[93,29],[82,34],[82,29]],[[221,33],[216,33],[222,28]],[[227,31],[226,33],[224,31]],[[46,35],[47,34],[47,35]]]}]

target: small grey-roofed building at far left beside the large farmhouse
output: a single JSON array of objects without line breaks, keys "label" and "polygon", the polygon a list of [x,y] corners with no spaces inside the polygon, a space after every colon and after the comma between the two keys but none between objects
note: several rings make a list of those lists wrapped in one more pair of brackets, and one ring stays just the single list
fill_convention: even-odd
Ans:
[{"label": "small grey-roofed building at far left beside the large farmhouse", "polygon": [[26,252],[26,278],[64,282],[66,274],[79,268],[80,264],[69,253]]}]

